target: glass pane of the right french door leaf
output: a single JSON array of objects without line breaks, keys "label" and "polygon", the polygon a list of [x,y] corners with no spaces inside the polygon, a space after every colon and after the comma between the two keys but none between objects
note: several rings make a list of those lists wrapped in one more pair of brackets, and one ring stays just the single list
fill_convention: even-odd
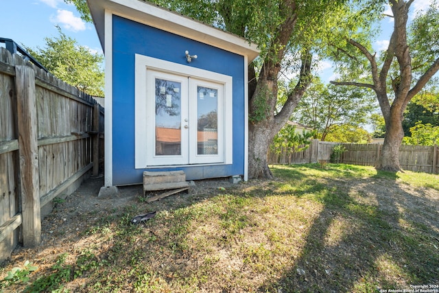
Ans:
[{"label": "glass pane of the right french door leaf", "polygon": [[197,86],[197,154],[218,154],[218,90]]}]

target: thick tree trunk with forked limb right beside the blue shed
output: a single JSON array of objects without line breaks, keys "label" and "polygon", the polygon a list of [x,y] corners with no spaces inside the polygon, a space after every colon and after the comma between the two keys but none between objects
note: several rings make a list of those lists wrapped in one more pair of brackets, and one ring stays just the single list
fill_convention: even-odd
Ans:
[{"label": "thick tree trunk with forked limb right beside the blue shed", "polygon": [[[268,167],[268,150],[274,136],[285,125],[295,107],[294,102],[292,102],[295,95],[290,95],[278,117],[274,116],[281,60],[285,55],[290,36],[297,21],[295,1],[288,0],[281,2],[279,5],[283,8],[282,11],[288,11],[289,13],[285,17],[285,21],[278,27],[273,39],[274,45],[268,51],[268,55],[265,56],[257,84],[254,85],[250,82],[249,86],[249,90],[253,91],[248,107],[250,116],[248,129],[249,178],[273,178],[273,174]],[[252,75],[251,72],[250,74]],[[306,84],[304,86],[306,88]]]}]

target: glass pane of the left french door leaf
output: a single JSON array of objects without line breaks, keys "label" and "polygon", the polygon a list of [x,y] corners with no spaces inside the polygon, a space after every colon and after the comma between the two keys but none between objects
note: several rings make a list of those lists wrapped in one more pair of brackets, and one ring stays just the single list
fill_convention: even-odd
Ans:
[{"label": "glass pane of the left french door leaf", "polygon": [[181,84],[156,78],[156,156],[181,154]]}]

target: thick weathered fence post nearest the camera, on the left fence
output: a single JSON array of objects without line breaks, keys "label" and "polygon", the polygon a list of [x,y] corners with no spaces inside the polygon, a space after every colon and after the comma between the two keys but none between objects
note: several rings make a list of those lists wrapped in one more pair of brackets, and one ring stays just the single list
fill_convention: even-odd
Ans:
[{"label": "thick weathered fence post nearest the camera, on the left fence", "polygon": [[26,65],[16,65],[15,80],[19,122],[23,246],[35,247],[41,240],[41,217],[34,69]]}]

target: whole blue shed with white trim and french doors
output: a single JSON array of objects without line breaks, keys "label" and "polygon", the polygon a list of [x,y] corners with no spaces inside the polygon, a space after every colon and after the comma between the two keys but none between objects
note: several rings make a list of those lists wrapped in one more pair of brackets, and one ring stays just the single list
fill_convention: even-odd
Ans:
[{"label": "whole blue shed with white trim and french doors", "polygon": [[104,48],[105,186],[248,169],[248,40],[140,0],[88,0]]}]

